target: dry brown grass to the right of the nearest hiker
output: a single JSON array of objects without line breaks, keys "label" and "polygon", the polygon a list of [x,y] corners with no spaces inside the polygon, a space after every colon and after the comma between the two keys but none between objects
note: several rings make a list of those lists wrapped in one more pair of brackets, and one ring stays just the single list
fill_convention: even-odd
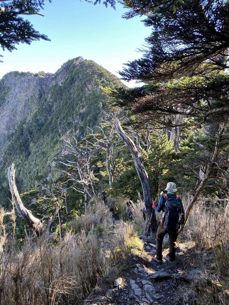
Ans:
[{"label": "dry brown grass to the right of the nearest hiker", "polygon": [[[186,205],[189,196],[184,198]],[[189,240],[187,244],[195,245],[198,268],[205,271],[205,276],[193,283],[198,300],[205,304],[229,304],[229,225],[224,219],[225,206],[213,199],[198,200],[181,236]]]}]

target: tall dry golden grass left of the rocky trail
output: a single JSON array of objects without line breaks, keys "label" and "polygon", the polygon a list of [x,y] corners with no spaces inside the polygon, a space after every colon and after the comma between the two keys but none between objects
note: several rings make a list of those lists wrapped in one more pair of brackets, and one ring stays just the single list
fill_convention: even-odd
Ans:
[{"label": "tall dry golden grass left of the rocky trail", "polygon": [[[4,213],[0,226],[1,240],[6,241]],[[43,235],[25,240],[16,249],[13,239],[8,240],[8,251],[0,259],[0,304],[83,303],[112,267],[128,264],[133,227],[114,222],[109,209],[99,203],[68,223],[60,244],[56,245],[54,236]],[[14,218],[12,223],[15,231]]]}]

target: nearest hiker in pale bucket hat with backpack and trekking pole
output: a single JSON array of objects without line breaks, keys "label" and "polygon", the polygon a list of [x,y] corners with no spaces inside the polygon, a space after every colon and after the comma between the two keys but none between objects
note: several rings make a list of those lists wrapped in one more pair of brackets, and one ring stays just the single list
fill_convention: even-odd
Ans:
[{"label": "nearest hiker in pale bucket hat with backpack and trekking pole", "polygon": [[160,225],[157,230],[157,245],[154,260],[158,264],[162,264],[162,243],[166,233],[169,234],[169,261],[174,262],[176,255],[176,239],[178,236],[178,231],[183,230],[184,225],[184,207],[181,199],[176,195],[176,184],[174,182],[167,183],[165,188],[166,193],[162,193],[157,204],[154,201],[152,207],[154,211],[163,211]]}]

